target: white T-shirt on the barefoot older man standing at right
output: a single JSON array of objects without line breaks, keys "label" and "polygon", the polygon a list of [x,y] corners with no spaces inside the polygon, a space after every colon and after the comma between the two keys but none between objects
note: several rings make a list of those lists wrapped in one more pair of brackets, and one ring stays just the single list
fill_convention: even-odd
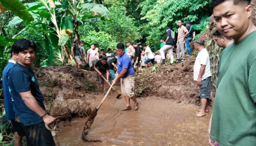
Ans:
[{"label": "white T-shirt on the barefoot older man standing at right", "polygon": [[211,76],[210,59],[206,49],[200,51],[196,57],[194,65],[194,81],[196,81],[199,76],[201,65],[206,65],[202,76],[202,80],[204,80]]}]

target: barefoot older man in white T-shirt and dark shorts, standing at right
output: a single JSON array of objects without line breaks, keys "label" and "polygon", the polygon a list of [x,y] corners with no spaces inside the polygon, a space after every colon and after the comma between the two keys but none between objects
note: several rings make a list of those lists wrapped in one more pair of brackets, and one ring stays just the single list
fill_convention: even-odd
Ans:
[{"label": "barefoot older man in white T-shirt and dark shorts, standing at right", "polygon": [[208,51],[204,47],[204,40],[196,39],[195,50],[199,51],[194,65],[194,81],[199,86],[201,109],[195,117],[199,118],[206,115],[208,111],[208,100],[211,97],[211,68]]}]

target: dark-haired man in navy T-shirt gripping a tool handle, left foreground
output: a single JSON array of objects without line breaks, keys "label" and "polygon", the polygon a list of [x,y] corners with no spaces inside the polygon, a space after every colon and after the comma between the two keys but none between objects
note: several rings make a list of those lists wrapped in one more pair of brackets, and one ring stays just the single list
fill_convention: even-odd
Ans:
[{"label": "dark-haired man in navy T-shirt gripping a tool handle, left foreground", "polygon": [[45,127],[45,124],[52,124],[55,118],[45,111],[44,97],[31,69],[35,50],[36,45],[30,39],[14,42],[12,51],[18,63],[10,70],[8,85],[17,120],[24,124],[27,146],[55,146],[51,132]]}]

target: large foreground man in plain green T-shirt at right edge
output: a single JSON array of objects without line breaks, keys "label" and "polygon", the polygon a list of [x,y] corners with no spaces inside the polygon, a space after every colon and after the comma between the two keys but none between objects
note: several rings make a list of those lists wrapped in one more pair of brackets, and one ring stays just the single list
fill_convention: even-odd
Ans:
[{"label": "large foreground man in plain green T-shirt at right edge", "polygon": [[219,78],[209,143],[255,146],[256,143],[256,27],[251,0],[212,0],[210,8],[219,32],[234,43],[219,61]]}]

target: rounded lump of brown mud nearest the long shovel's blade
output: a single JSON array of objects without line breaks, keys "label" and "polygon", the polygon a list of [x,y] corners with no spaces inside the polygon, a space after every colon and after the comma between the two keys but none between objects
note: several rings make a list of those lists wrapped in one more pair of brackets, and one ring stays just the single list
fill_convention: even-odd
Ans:
[{"label": "rounded lump of brown mud nearest the long shovel's blade", "polygon": [[80,117],[85,117],[90,115],[91,108],[86,101],[81,99],[69,99],[67,105],[71,114],[78,115]]}]

